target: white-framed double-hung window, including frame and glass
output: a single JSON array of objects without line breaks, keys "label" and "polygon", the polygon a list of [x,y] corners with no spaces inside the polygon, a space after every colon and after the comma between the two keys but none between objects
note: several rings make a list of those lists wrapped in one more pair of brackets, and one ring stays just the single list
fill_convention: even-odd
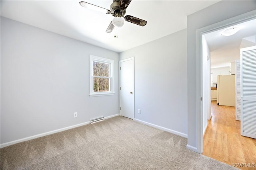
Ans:
[{"label": "white-framed double-hung window, including frame and glass", "polygon": [[90,96],[114,94],[114,60],[90,55]]}]

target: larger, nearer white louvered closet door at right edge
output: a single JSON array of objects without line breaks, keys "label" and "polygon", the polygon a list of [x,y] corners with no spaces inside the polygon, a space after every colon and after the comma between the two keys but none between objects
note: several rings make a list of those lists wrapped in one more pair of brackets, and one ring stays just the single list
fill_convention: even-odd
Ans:
[{"label": "larger, nearer white louvered closet door at right edge", "polygon": [[240,50],[241,135],[256,139],[256,46]]}]

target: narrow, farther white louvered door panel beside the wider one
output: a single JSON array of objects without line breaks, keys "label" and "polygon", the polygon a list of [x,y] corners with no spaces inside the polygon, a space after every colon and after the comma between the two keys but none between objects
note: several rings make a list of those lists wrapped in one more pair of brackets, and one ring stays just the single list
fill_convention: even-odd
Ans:
[{"label": "narrow, farther white louvered door panel beside the wider one", "polygon": [[236,60],[236,120],[240,120],[241,118],[240,77],[240,60]]}]

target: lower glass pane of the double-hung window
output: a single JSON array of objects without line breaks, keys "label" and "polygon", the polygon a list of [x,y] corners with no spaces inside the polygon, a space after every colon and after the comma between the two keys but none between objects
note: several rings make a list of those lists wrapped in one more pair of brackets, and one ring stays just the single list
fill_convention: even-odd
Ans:
[{"label": "lower glass pane of the double-hung window", "polygon": [[93,78],[94,92],[109,92],[109,78]]}]

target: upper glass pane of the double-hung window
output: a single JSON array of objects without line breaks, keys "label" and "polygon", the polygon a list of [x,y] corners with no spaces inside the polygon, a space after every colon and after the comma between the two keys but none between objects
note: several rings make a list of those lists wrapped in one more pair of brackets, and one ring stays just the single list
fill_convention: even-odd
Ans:
[{"label": "upper glass pane of the double-hung window", "polygon": [[93,76],[109,77],[109,64],[93,62]]}]

